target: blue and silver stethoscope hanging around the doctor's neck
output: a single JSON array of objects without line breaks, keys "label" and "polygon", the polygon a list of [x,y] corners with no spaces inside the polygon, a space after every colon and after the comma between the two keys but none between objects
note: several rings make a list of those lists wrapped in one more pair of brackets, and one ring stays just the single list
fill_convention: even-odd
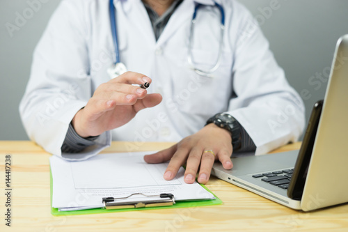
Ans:
[{"label": "blue and silver stethoscope hanging around the doctor's neck", "polygon": [[[209,70],[202,70],[199,68],[195,68],[195,65],[193,64],[192,59],[192,35],[193,35],[193,28],[196,24],[196,15],[197,10],[201,7],[205,6],[201,3],[198,3],[194,9],[192,20],[191,20],[191,29],[189,33],[189,51],[187,54],[187,61],[189,62],[190,68],[194,70],[198,75],[205,76],[205,77],[213,77],[212,72],[214,72],[217,68],[219,68],[219,65],[221,63],[221,54],[222,54],[222,45],[223,45],[223,33],[225,31],[225,12],[223,10],[223,7],[214,1],[214,6],[219,8],[221,13],[221,24],[220,24],[220,40],[219,40],[219,54],[218,58],[216,60],[216,63],[214,64],[213,68],[210,68]],[[115,13],[115,7],[113,6],[113,0],[109,1],[109,13],[110,13],[110,23],[111,23],[111,34],[113,39],[113,46],[115,48],[115,54],[116,54],[116,62],[111,65],[111,67],[108,69],[108,73],[113,79],[114,77],[118,77],[119,75],[122,75],[123,73],[127,72],[127,68],[124,63],[120,62],[120,51],[118,49],[118,37],[117,37],[117,27],[116,27],[116,13]]]}]

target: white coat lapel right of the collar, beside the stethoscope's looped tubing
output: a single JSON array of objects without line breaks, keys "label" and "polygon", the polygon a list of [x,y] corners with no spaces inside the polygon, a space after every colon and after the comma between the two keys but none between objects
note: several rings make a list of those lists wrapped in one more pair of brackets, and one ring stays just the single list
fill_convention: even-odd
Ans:
[{"label": "white coat lapel right of the collar, beside the stethoscope's looped tubing", "polygon": [[180,4],[180,6],[177,7],[173,15],[171,15],[168,23],[166,24],[164,31],[161,33],[161,36],[159,36],[159,39],[157,40],[157,46],[164,44],[164,42],[171,38],[173,33],[175,33],[177,29],[182,26],[182,24],[191,20],[194,6],[195,5],[193,1],[184,0]]}]

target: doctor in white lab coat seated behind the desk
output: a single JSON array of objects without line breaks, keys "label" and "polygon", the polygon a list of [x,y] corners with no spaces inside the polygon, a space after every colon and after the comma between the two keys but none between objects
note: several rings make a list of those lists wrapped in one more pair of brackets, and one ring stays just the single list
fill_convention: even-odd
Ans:
[{"label": "doctor in white lab coat seated behind the desk", "polygon": [[304,127],[301,98],[234,0],[63,0],[19,110],[29,137],[67,160],[111,139],[179,141],[144,159],[170,160],[166,180],[187,164],[187,183],[196,173],[207,183],[214,160],[231,169],[232,152],[296,141]]}]

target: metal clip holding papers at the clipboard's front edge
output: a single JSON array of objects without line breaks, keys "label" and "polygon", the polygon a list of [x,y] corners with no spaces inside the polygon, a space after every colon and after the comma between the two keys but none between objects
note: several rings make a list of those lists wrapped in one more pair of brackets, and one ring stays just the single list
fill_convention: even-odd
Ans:
[{"label": "metal clip holding papers at the clipboard's front edge", "polygon": [[[152,199],[152,200],[144,200],[144,201],[128,201],[128,202],[120,202],[118,200],[120,199],[127,199],[130,196],[134,195],[143,195],[147,197],[159,197],[161,199]],[[162,193],[159,195],[146,195],[142,193],[134,193],[130,194],[129,196],[125,197],[103,197],[103,203],[104,208],[106,210],[113,210],[113,209],[121,209],[121,208],[148,208],[148,207],[156,207],[156,206],[173,206],[175,204],[174,201],[174,195],[173,194],[166,194]]]}]

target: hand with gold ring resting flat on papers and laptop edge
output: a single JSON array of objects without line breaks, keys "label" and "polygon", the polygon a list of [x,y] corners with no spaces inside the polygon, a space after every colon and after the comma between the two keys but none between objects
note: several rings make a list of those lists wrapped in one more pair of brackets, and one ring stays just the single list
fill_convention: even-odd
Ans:
[{"label": "hand with gold ring resting flat on papers and laptop edge", "polygon": [[203,127],[196,134],[182,139],[179,143],[152,155],[144,160],[156,164],[171,160],[164,172],[164,179],[172,180],[177,171],[186,163],[185,183],[193,183],[198,172],[198,182],[208,182],[215,160],[219,160],[225,169],[232,169],[232,138],[230,132],[214,123]]}]

